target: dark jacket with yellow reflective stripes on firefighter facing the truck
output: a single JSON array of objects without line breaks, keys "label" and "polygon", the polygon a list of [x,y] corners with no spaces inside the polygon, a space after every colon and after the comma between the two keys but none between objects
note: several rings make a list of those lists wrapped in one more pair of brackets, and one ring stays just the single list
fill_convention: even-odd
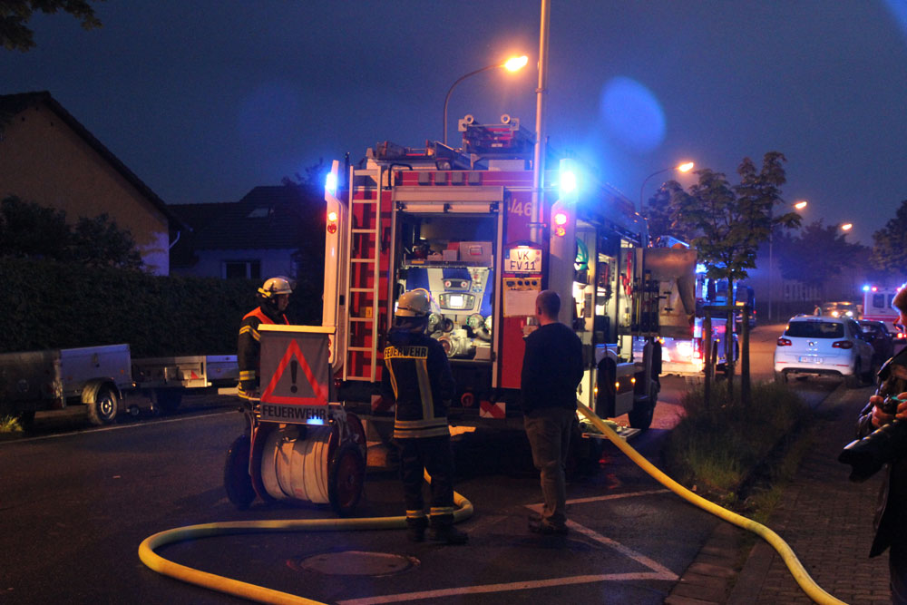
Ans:
[{"label": "dark jacket with yellow reflective stripes on firefighter facing the truck", "polygon": [[387,341],[381,392],[396,402],[395,438],[449,435],[447,406],[456,385],[444,347],[403,328],[392,329]]}]

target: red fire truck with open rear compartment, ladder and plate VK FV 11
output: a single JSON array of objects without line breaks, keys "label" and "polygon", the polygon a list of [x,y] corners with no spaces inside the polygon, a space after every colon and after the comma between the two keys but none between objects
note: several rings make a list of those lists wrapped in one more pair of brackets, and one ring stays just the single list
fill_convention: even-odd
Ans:
[{"label": "red fire truck with open rear compartment, ladder and plate VK FV 11", "polygon": [[522,428],[523,337],[535,328],[536,295],[552,289],[583,345],[578,400],[603,418],[628,414],[625,436],[647,429],[659,390],[661,282],[646,268],[654,249],[645,220],[619,191],[588,172],[580,178],[570,159],[545,171],[533,194],[534,137],[517,119],[466,116],[459,130],[459,149],[385,141],[357,166],[333,162],[323,326],[335,396],[370,424],[393,420],[379,395],[385,334],[396,299],[424,288],[429,333],[457,383],[451,423]]}]

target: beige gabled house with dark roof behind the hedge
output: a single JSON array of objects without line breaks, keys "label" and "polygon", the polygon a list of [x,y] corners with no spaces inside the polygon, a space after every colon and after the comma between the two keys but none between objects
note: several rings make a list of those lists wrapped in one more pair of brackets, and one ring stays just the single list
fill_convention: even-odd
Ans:
[{"label": "beige gabled house with dark roof behind the hedge", "polygon": [[0,95],[0,199],[16,196],[76,221],[106,212],[145,265],[170,271],[180,221],[148,185],[47,92]]}]

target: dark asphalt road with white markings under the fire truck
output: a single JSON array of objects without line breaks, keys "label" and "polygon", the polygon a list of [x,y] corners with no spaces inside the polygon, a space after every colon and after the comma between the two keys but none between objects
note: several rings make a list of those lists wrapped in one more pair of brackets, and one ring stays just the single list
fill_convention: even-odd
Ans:
[{"label": "dark asphalt road with white markings under the fire truck", "polygon": [[[776,329],[754,334],[754,376],[765,377]],[[632,442],[655,464],[682,413],[685,385],[677,377],[663,383],[653,428]],[[820,401],[836,383],[795,386]],[[38,438],[0,441],[0,602],[240,602],[148,570],[137,556],[139,543],[195,523],[334,518],[315,505],[233,509],[222,467],[241,424],[229,400],[220,402],[105,429],[57,418],[63,424],[45,425]],[[467,546],[413,544],[399,531],[281,533],[183,542],[161,554],[331,603],[661,603],[719,521],[669,493],[612,445],[602,459],[598,473],[569,486],[566,540],[526,531],[541,493],[522,434],[473,434],[457,446],[456,488],[475,506],[462,526],[470,533]],[[402,509],[395,473],[370,468],[359,514],[395,516]]]}]

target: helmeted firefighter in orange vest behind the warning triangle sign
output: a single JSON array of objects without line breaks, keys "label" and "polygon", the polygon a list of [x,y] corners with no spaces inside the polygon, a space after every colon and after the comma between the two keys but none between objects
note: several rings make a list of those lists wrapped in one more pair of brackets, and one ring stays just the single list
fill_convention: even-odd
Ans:
[{"label": "helmeted firefighter in orange vest behind the warning triangle sign", "polygon": [[237,361],[239,362],[239,396],[244,399],[258,396],[261,346],[258,344],[258,326],[261,324],[289,324],[284,311],[289,304],[293,288],[289,279],[282,276],[269,278],[258,288],[256,298],[260,303],[242,318],[239,325]]}]

